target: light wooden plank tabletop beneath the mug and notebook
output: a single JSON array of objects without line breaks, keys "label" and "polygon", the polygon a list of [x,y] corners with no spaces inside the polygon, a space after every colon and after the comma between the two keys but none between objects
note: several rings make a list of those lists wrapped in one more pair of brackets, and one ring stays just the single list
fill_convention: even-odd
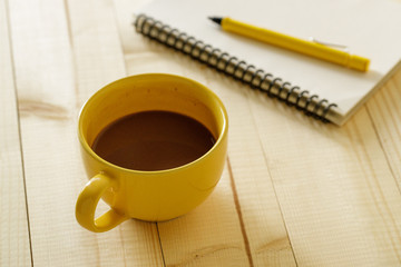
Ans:
[{"label": "light wooden plank tabletop beneath the mug and notebook", "polygon": [[[401,71],[345,126],[321,123],[146,41],[143,2],[0,0],[0,266],[400,266]],[[143,72],[223,99],[226,167],[188,215],[94,234],[75,219],[78,112]]]}]

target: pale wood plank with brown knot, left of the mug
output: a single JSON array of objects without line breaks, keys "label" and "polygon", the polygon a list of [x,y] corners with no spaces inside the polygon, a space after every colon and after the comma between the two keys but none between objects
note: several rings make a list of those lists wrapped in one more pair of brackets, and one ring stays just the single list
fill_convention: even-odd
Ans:
[{"label": "pale wood plank with brown knot, left of the mug", "polygon": [[75,82],[63,2],[10,1],[10,21],[33,263],[96,265],[99,248],[88,245],[97,238],[74,221],[84,171],[72,138]]}]

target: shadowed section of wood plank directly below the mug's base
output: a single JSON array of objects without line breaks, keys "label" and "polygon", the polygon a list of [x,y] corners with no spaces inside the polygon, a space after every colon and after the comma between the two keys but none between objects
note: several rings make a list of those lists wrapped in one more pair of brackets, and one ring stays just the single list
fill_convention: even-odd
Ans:
[{"label": "shadowed section of wood plank directly below the mug's base", "polygon": [[226,168],[216,189],[189,214],[158,222],[166,266],[248,266],[232,180]]}]

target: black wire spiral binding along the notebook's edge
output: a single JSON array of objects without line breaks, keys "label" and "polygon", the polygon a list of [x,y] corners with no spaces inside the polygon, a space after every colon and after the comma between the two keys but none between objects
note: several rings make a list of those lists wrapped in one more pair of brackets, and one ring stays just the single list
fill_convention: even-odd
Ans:
[{"label": "black wire spiral binding along the notebook's edge", "polygon": [[244,60],[232,57],[218,48],[213,48],[196,38],[180,32],[179,30],[154,20],[146,14],[138,14],[135,22],[137,32],[156,40],[169,48],[188,55],[193,59],[233,77],[252,89],[258,89],[268,97],[276,98],[288,106],[294,106],[307,116],[329,122],[330,117],[335,116],[335,103],[330,103],[326,99],[320,99],[316,95],[310,95],[307,90],[302,90],[291,82],[283,81],[272,73],[257,69]]}]

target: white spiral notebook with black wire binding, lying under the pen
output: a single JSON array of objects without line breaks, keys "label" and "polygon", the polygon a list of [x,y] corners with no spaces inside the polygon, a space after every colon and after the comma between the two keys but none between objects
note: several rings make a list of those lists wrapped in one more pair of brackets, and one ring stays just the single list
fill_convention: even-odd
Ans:
[{"label": "white spiral notebook with black wire binding, lying under the pen", "polygon": [[[401,67],[401,2],[395,0],[155,0],[139,12],[137,32],[339,126]],[[371,66],[359,72],[224,32],[211,16],[346,46]]]}]

